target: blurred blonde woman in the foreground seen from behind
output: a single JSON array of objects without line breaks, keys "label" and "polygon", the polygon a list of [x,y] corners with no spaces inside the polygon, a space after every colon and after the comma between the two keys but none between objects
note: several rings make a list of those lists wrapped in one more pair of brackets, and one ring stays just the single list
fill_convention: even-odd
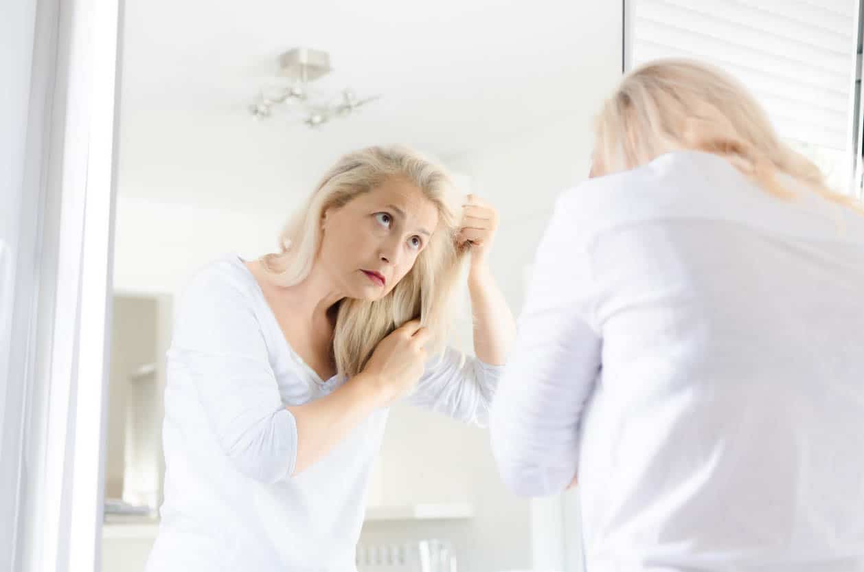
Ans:
[{"label": "blurred blonde woman in the foreground seen from behind", "polygon": [[593,174],[492,404],[505,482],[578,482],[588,572],[864,570],[861,205],[683,60],[621,81]]}]

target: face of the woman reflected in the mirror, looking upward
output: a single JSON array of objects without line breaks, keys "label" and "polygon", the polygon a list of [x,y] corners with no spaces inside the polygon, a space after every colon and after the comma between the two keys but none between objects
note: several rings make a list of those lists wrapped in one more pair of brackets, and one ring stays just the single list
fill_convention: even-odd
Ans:
[{"label": "face of the woman reflected in the mirror, looking upward", "polygon": [[411,270],[438,225],[422,191],[392,178],[324,213],[318,263],[350,298],[376,300]]}]

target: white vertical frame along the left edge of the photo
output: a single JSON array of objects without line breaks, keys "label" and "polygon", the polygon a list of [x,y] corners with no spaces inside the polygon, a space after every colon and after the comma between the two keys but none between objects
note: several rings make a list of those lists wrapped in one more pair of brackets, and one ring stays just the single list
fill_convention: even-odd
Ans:
[{"label": "white vertical frame along the left edge of the photo", "polygon": [[3,437],[17,447],[9,459],[3,451],[13,485],[3,505],[14,518],[3,537],[8,560],[0,558],[9,569],[92,572],[104,502],[123,0],[16,5],[14,24],[33,35],[11,54],[29,68],[29,84],[19,110],[26,132],[13,142],[23,149],[21,185],[12,187],[21,219],[8,372],[18,383]]}]

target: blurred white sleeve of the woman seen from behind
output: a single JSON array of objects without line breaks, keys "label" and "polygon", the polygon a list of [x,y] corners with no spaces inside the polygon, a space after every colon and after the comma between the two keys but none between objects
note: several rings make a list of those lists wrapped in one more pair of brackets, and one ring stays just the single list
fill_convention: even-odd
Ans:
[{"label": "blurred white sleeve of the woman seen from behind", "polygon": [[581,412],[600,371],[590,261],[573,194],[537,250],[517,340],[490,412],[492,452],[514,493],[560,493],[577,471]]}]

